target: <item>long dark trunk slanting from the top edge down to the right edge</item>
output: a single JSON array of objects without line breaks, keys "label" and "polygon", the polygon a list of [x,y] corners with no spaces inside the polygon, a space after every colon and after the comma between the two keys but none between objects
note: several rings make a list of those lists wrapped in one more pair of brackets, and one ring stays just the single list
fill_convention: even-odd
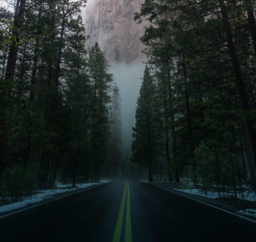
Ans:
[{"label": "long dark trunk slanting from the top edge down to the right edge", "polygon": [[[249,139],[246,139],[247,141],[247,147],[251,147],[252,151],[253,151],[253,158],[254,158],[254,163],[250,164],[251,167],[255,166],[256,163],[256,130],[253,128],[253,122],[251,119],[249,119],[247,117],[248,112],[250,111],[250,105],[248,102],[248,98],[247,98],[247,93],[244,87],[244,83],[243,83],[243,76],[242,76],[242,72],[240,69],[240,64],[238,62],[237,59],[237,53],[234,47],[234,42],[233,42],[233,38],[232,38],[232,34],[231,34],[231,28],[230,28],[230,23],[229,23],[229,19],[228,19],[228,14],[227,14],[227,10],[226,7],[224,5],[224,1],[220,0],[220,8],[221,8],[221,15],[222,15],[222,22],[223,22],[223,26],[224,26],[224,32],[227,38],[227,43],[228,43],[228,50],[229,50],[229,54],[231,57],[231,63],[233,66],[233,71],[234,71],[234,75],[235,75],[235,81],[236,81],[236,85],[238,88],[238,94],[239,94],[239,99],[240,99],[240,104],[243,110],[243,115],[245,115],[245,129],[246,129],[246,135],[249,136]],[[252,160],[250,160],[250,162],[253,162]],[[254,169],[253,169],[254,170]],[[253,178],[255,177],[255,172],[253,175]]]}]

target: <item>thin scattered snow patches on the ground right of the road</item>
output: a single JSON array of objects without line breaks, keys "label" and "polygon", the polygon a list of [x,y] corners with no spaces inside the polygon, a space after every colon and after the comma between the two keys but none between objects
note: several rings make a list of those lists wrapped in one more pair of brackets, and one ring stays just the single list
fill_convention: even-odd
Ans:
[{"label": "thin scattered snow patches on the ground right of the road", "polygon": [[[176,188],[174,188],[174,190],[182,191],[182,192],[186,192],[186,193],[190,193],[190,194],[194,194],[194,195],[199,195],[199,196],[203,196],[206,198],[213,198],[213,199],[218,198],[217,192],[209,192],[208,195],[206,195],[206,194],[199,193],[198,189],[176,189]],[[240,194],[237,194],[237,197],[240,199],[243,199],[242,197],[240,197]],[[245,194],[245,199],[247,201],[256,201],[256,198],[252,197],[250,194]],[[256,209],[250,208],[250,209],[246,209],[246,210],[239,210],[239,211],[237,211],[237,214],[256,218]]]}]

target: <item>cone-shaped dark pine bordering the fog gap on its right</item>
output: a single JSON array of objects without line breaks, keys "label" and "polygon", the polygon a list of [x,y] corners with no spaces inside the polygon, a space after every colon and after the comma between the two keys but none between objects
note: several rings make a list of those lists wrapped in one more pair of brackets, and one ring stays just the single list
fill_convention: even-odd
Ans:
[{"label": "cone-shaped dark pine bordering the fog gap on its right", "polygon": [[153,167],[159,155],[159,133],[155,107],[155,84],[145,67],[136,108],[136,124],[133,127],[133,161],[148,167],[149,182],[153,181]]}]

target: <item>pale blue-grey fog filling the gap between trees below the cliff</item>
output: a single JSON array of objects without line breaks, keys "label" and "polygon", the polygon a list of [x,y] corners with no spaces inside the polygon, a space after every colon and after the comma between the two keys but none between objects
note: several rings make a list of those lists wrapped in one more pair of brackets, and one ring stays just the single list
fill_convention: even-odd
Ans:
[{"label": "pale blue-grey fog filling the gap between trees below the cliff", "polygon": [[123,161],[128,161],[131,154],[132,127],[135,125],[135,110],[137,97],[142,83],[145,64],[141,60],[130,64],[119,63],[109,68],[114,75],[114,81],[120,89],[122,99],[122,156]]}]

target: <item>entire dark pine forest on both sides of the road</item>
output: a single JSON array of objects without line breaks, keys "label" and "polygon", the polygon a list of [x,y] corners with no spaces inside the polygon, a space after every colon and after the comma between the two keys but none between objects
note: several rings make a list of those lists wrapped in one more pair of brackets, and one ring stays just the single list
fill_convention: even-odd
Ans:
[{"label": "entire dark pine forest on both sides of the road", "polygon": [[10,2],[0,7],[0,204],[142,171],[219,198],[243,185],[256,194],[255,1],[145,0],[134,13],[147,60],[127,163],[117,80],[100,44],[85,46],[86,0]]}]

